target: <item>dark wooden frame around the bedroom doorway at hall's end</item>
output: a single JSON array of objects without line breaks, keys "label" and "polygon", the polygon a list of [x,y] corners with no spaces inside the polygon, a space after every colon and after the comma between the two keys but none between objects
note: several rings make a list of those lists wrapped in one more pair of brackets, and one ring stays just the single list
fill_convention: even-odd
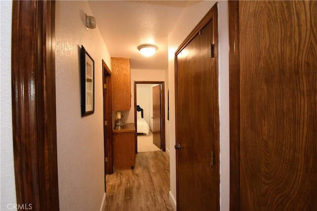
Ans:
[{"label": "dark wooden frame around the bedroom doorway at hall's end", "polygon": [[161,85],[161,103],[160,108],[162,111],[161,117],[161,136],[162,136],[162,151],[166,151],[166,140],[165,140],[165,87],[164,82],[161,81],[135,81],[134,82],[134,122],[135,122],[135,154],[138,153],[138,138],[137,138],[137,84],[160,84]]}]

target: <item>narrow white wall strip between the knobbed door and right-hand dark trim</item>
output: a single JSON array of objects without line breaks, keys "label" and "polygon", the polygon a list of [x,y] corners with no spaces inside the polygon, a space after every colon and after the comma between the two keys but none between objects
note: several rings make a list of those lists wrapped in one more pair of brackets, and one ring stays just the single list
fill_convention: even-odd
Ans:
[{"label": "narrow white wall strip between the knobbed door and right-hand dark trim", "polygon": [[218,3],[219,30],[219,121],[220,121],[220,209],[230,205],[229,128],[229,22],[228,1]]}]

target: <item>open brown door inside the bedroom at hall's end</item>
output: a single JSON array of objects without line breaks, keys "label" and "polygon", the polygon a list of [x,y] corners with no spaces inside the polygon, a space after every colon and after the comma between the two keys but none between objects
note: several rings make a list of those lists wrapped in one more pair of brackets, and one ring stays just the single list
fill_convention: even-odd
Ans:
[{"label": "open brown door inside the bedroom at hall's end", "polygon": [[160,109],[160,85],[153,89],[153,143],[161,149],[161,109]]}]

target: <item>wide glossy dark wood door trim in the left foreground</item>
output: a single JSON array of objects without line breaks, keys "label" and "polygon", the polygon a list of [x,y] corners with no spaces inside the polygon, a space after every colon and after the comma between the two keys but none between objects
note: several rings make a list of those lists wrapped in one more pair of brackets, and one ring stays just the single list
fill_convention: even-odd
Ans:
[{"label": "wide glossy dark wood door trim in the left foreground", "polygon": [[58,211],[55,1],[12,2],[12,133],[16,203]]}]

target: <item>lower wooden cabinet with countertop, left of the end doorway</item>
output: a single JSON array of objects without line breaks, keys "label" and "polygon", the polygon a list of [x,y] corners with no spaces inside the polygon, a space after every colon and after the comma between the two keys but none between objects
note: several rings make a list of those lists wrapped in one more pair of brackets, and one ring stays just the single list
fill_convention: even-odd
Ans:
[{"label": "lower wooden cabinet with countertop, left of the end doorway", "polygon": [[113,171],[134,169],[135,126],[126,124],[122,129],[112,130]]}]

